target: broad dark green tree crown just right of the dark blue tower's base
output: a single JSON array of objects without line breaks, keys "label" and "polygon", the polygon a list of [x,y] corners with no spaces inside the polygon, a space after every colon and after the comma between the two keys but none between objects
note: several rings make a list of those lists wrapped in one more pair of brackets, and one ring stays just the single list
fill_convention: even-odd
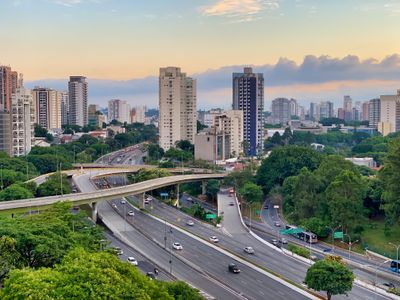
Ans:
[{"label": "broad dark green tree crown just right of the dark blue tower's base", "polygon": [[257,183],[268,193],[275,185],[281,185],[285,178],[297,175],[303,167],[313,171],[321,163],[322,155],[304,146],[275,148],[263,160],[257,171]]}]

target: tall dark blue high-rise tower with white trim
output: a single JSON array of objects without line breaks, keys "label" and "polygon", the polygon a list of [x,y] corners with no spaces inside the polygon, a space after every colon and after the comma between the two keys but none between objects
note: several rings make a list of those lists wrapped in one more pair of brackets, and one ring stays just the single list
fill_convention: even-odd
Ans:
[{"label": "tall dark blue high-rise tower with white trim", "polygon": [[264,75],[244,68],[233,73],[233,109],[243,111],[243,140],[247,155],[257,155],[264,149]]}]

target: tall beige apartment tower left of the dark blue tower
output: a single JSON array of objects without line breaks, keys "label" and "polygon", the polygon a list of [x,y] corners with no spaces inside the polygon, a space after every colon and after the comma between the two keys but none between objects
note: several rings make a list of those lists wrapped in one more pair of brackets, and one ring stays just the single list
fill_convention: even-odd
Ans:
[{"label": "tall beige apartment tower left of the dark blue tower", "polygon": [[160,68],[160,147],[164,150],[179,140],[194,144],[197,132],[196,80],[182,73],[180,68]]}]

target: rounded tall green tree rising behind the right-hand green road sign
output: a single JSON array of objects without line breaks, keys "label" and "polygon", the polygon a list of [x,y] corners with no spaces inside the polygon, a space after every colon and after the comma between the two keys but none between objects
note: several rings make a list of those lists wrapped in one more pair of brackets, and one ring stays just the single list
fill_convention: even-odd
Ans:
[{"label": "rounded tall green tree rising behind the right-hand green road sign", "polygon": [[341,172],[326,189],[331,224],[353,228],[364,216],[365,182],[349,170]]}]

